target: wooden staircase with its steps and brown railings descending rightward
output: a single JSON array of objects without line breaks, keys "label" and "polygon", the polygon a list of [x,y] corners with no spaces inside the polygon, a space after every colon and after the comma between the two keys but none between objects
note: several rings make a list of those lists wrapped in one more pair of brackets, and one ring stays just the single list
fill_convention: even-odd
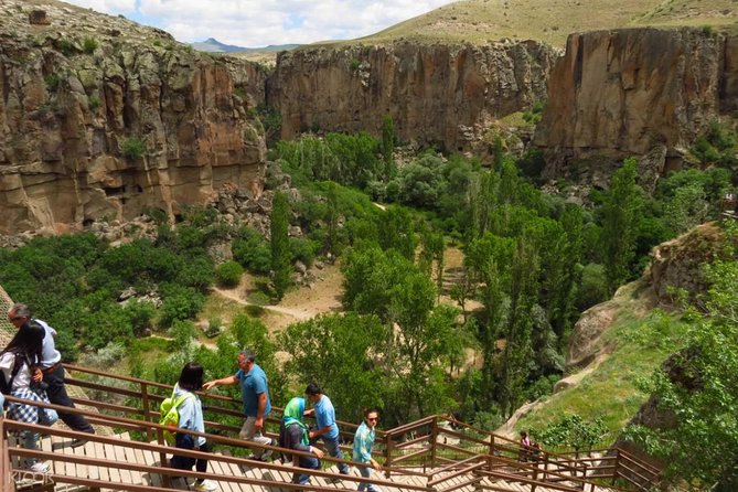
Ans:
[{"label": "wooden staircase with its steps and brown railings descending rightward", "polygon": [[[40,427],[0,419],[0,437],[13,430],[34,430],[45,435],[41,450],[26,450],[12,446],[12,439],[0,439],[3,448],[0,474],[3,469],[8,469],[13,479],[19,479],[14,484],[19,492],[191,490],[188,483],[193,483],[196,478],[215,481],[220,490],[226,492],[335,492],[336,489],[356,490],[359,483],[365,481],[355,468],[347,477],[339,475],[335,466],[340,460],[329,457],[323,458],[323,466],[329,468],[301,470],[311,474],[311,483],[308,485],[291,483],[296,470],[291,463],[263,463],[240,458],[248,452],[244,441],[228,437],[237,436],[239,427],[223,424],[228,418],[240,419],[240,402],[211,394],[202,394],[201,398],[206,402],[206,417],[212,419],[205,424],[205,428],[217,432],[205,435],[216,452],[204,454],[178,450],[178,454],[206,457],[207,472],[185,472],[162,467],[162,462],[168,462],[168,453],[172,448],[163,445],[163,427],[157,424],[159,414],[152,408],[158,408],[164,395],[171,394],[171,387],[85,367],[66,368],[73,373],[73,377],[67,378],[67,385],[109,393],[109,396],[100,397],[100,402],[74,398],[77,405],[92,409],[82,409],[81,406],[71,410],[84,415],[96,429],[107,429],[107,432],[90,436],[57,426]],[[90,382],[84,378],[84,374],[101,375],[118,382]],[[121,382],[126,385],[121,385]],[[121,396],[126,399],[125,404],[120,403]],[[54,405],[43,406],[61,409]],[[69,411],[68,408],[64,410]],[[281,409],[274,408],[267,423],[267,431],[272,437],[280,413]],[[536,457],[536,462],[520,462],[517,457],[521,448],[517,442],[462,423],[453,421],[452,428],[449,423],[446,417],[430,416],[395,429],[377,430],[375,459],[384,463],[385,472],[374,474],[371,482],[382,492],[606,492],[624,490],[609,484],[616,479],[630,483],[630,490],[643,491],[657,479],[655,470],[619,450],[610,450],[610,456],[579,459],[544,450]],[[343,430],[342,438],[350,440],[356,426],[340,423],[340,427]],[[89,440],[78,448],[65,446],[74,438]],[[279,448],[266,448],[280,451]],[[344,454],[351,456],[347,447],[344,449]],[[8,458],[3,459],[2,456]],[[43,477],[29,475],[20,469],[22,457],[46,460],[52,470]],[[350,461],[344,462],[351,464]],[[185,479],[173,479],[174,475]],[[12,489],[6,486],[0,490],[6,492]]]}]

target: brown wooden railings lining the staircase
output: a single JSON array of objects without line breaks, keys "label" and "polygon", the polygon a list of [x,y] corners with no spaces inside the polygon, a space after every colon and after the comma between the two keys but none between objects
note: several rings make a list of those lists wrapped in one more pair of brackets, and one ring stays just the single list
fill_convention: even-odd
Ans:
[{"label": "brown wooden railings lining the staircase", "polygon": [[[154,443],[131,441],[130,446],[154,451],[160,456],[160,461],[163,462],[165,453],[171,452],[171,448],[164,446],[163,428],[157,424],[159,420],[158,408],[159,403],[171,394],[172,386],[133,377],[116,376],[103,371],[73,365],[65,365],[65,368],[75,375],[87,374],[96,377],[111,378],[115,379],[115,384],[103,384],[78,377],[67,377],[66,383],[69,385],[76,385],[94,392],[103,392],[107,396],[98,398],[104,399],[103,402],[90,398],[74,398],[76,404],[94,407],[96,411],[69,409],[54,405],[49,405],[49,407],[67,413],[82,414],[93,424],[140,432],[140,436],[146,437],[148,441],[156,439],[157,442]],[[125,387],[117,387],[119,385],[124,385]],[[205,393],[200,395],[206,407],[206,415],[213,417],[205,424],[208,432],[214,432],[206,435],[208,441],[220,447],[232,449],[245,448],[246,446],[243,440],[228,437],[237,435],[240,428],[239,425],[223,423],[228,418],[232,420],[240,420],[243,418],[240,399]],[[13,399],[9,397],[9,400]],[[237,409],[234,409],[234,406]],[[267,420],[267,435],[276,437],[275,430],[280,421],[280,416],[281,408],[274,407],[272,415]],[[342,438],[347,438],[345,440],[353,438],[354,429],[356,428],[355,425],[343,421],[339,423],[339,425],[342,429]],[[28,425],[9,420],[4,423],[4,428],[22,429],[23,426]],[[43,432],[60,437],[95,439],[100,442],[105,442],[107,439],[115,439],[103,436],[90,437],[89,435],[79,435],[79,432],[69,430],[62,431],[56,428],[44,428]],[[188,434],[197,435],[197,432]],[[657,482],[657,471],[653,467],[649,467],[620,450],[610,450],[610,454],[602,458],[571,458],[567,454],[557,454],[545,450],[533,454],[530,450],[522,449],[514,440],[441,416],[426,417],[386,431],[377,430],[376,434],[375,458],[384,461],[386,479],[391,479],[393,474],[421,477],[426,479],[427,488],[416,489],[423,491],[428,489],[451,492],[472,483],[477,488],[494,490],[494,486],[486,484],[489,480],[484,482],[485,478],[509,480],[530,485],[531,491],[535,491],[537,486],[545,485],[548,489],[565,492],[575,489],[586,490],[588,484],[590,488],[593,486],[595,482],[591,481],[592,475],[596,475],[597,483],[600,484],[610,480],[614,484],[616,480],[622,479],[623,482],[630,484],[635,490],[648,490]],[[115,441],[120,445],[120,439],[115,439]],[[253,442],[249,442],[248,447],[281,451],[279,448],[260,446]],[[344,446],[343,448],[346,449],[347,447]],[[10,454],[35,456],[34,453],[38,452],[13,449],[10,451]],[[243,451],[240,452],[243,453]],[[299,454],[299,452],[290,452]],[[178,454],[191,456],[191,453],[201,454],[196,451],[178,450]],[[62,457],[58,458],[61,461],[71,460],[72,462],[82,462],[75,461],[81,459],[79,457],[69,454],[63,454]],[[46,456],[45,458],[49,457]],[[521,462],[518,461],[520,458],[526,458],[528,461]],[[207,459],[210,461],[217,459],[226,463],[254,466],[253,461],[244,461],[244,458],[207,454]],[[54,460],[57,460],[56,456],[54,456]],[[328,456],[323,460],[329,463],[344,462],[351,464],[350,460],[336,460]],[[0,459],[0,461],[2,460]],[[282,470],[282,466],[274,463],[259,463],[259,467]],[[149,468],[146,468],[146,472],[159,473],[164,478],[172,474],[171,470],[161,469],[161,467]],[[287,467],[287,470],[290,472],[295,471],[291,467]],[[139,471],[143,471],[143,469]],[[327,471],[313,472],[311,470],[301,470],[301,472],[303,471],[317,477],[332,477]],[[180,470],[177,471],[177,474],[192,478],[199,477],[196,472],[184,473]],[[208,473],[208,477],[213,478],[212,473]],[[451,485],[450,481],[458,477],[467,478],[461,484],[454,483]],[[341,479],[351,480],[351,478],[343,475],[341,475]],[[354,481],[360,480],[359,478],[354,479]],[[64,480],[67,483],[84,481],[82,479],[72,481],[68,478],[58,478],[58,480]],[[254,479],[244,479],[242,477],[238,480],[228,480],[224,477],[217,477],[216,480],[250,483],[248,481]],[[373,483],[372,480],[361,479],[361,481]],[[269,483],[274,485],[274,482]],[[378,485],[387,485],[387,483],[392,482],[376,480],[376,484]],[[105,485],[105,488],[109,489],[111,486]],[[290,486],[287,488],[289,489]],[[299,488],[299,485],[295,485],[295,488]],[[411,486],[406,486],[406,484],[403,484],[403,488],[413,489]],[[618,490],[613,485],[608,485],[608,488]],[[319,490],[320,488],[311,485],[311,489]],[[138,489],[127,488],[126,490]],[[334,488],[332,490],[335,491]]]}]

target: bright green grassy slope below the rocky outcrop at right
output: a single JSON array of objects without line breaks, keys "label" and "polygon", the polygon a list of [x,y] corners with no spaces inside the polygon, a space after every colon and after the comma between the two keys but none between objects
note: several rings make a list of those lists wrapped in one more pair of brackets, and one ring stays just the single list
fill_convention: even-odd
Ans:
[{"label": "bright green grassy slope below the rocky outcrop at right", "polygon": [[602,347],[613,347],[612,353],[578,385],[548,397],[543,407],[522,418],[516,429],[543,429],[567,414],[585,420],[601,417],[608,434],[600,446],[610,445],[649,397],[638,388],[639,381],[682,346],[685,332],[686,324],[678,319],[649,313],[640,298],[625,300],[601,340]]}]

